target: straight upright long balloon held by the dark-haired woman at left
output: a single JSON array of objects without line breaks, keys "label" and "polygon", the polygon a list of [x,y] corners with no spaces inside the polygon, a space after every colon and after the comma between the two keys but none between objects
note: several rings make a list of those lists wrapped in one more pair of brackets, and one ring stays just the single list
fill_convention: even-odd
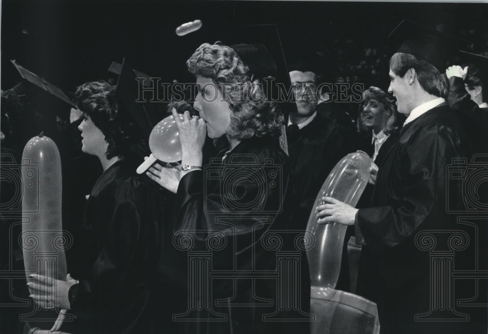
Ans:
[{"label": "straight upright long balloon held by the dark-haired woman at left", "polygon": [[64,280],[64,247],[70,240],[62,234],[61,158],[52,139],[41,134],[27,142],[22,183],[22,216],[28,218],[22,224],[21,240],[27,280],[30,274]]}]

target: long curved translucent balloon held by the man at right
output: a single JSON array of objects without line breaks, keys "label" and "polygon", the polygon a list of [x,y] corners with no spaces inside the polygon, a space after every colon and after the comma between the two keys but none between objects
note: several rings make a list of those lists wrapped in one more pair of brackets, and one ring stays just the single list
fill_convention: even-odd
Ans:
[{"label": "long curved translucent balloon held by the man at right", "polygon": [[315,244],[307,250],[311,286],[335,288],[347,229],[346,225],[339,223],[317,224],[315,208],[324,204],[324,196],[355,206],[369,180],[370,165],[371,158],[365,152],[348,154],[335,165],[315,199],[306,227],[315,237]]}]

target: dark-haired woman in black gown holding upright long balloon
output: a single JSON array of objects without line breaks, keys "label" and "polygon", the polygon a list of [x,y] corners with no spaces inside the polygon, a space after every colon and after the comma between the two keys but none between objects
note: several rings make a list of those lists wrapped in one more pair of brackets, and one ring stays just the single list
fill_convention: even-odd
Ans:
[{"label": "dark-haired woman in black gown holding upright long balloon", "polygon": [[[78,258],[68,263],[73,279],[34,275],[29,283],[42,307],[75,315],[74,322],[62,324],[64,332],[149,333],[151,328],[148,304],[160,255],[163,199],[159,187],[135,173],[147,143],[117,88],[99,81],[76,91],[84,115],[79,126],[82,151],[100,159],[103,174],[75,235]],[[46,295],[45,287],[51,285],[57,293]],[[54,329],[60,325],[58,321]]]}]

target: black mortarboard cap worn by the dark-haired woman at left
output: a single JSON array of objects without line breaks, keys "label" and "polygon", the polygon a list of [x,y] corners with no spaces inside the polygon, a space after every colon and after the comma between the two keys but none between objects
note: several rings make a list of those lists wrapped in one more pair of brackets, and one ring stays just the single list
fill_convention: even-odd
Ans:
[{"label": "black mortarboard cap worn by the dark-haired woman at left", "polygon": [[120,107],[124,116],[132,119],[141,129],[144,138],[148,139],[153,125],[147,114],[144,102],[136,101],[139,95],[139,82],[125,59],[122,61],[122,69],[117,81],[115,94],[121,101]]}]

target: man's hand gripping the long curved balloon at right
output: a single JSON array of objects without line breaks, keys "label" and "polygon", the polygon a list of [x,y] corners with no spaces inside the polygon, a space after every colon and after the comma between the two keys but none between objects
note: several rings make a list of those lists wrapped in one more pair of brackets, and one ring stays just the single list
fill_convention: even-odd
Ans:
[{"label": "man's hand gripping the long curved balloon at right", "polygon": [[318,211],[317,217],[319,217],[317,223],[337,222],[343,225],[354,225],[358,209],[333,197],[322,197],[322,199],[326,204],[319,205],[315,209]]}]

